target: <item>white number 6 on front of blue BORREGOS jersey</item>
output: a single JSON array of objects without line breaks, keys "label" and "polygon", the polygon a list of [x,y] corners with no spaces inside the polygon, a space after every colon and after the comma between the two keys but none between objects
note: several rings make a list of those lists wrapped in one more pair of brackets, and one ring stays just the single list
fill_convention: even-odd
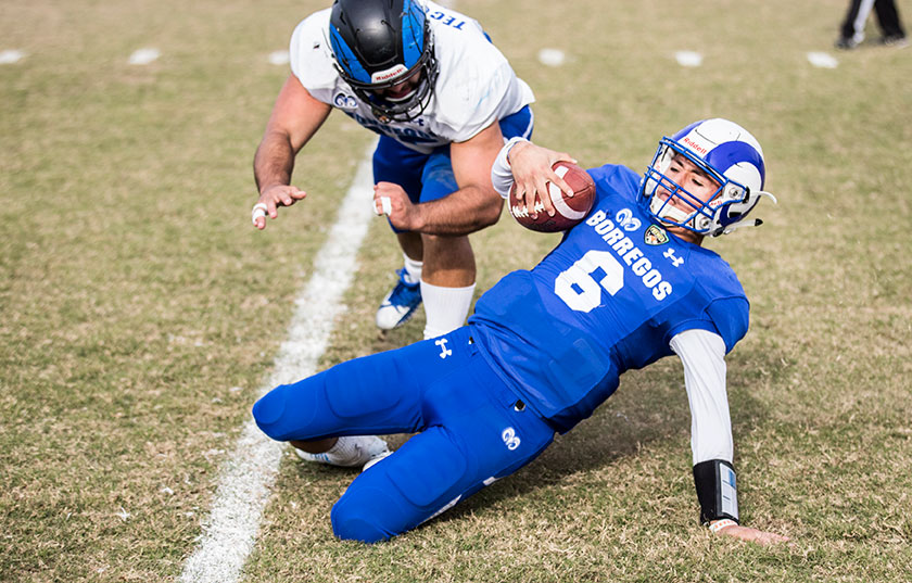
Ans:
[{"label": "white number 6 on front of blue BORREGOS jersey", "polygon": [[[595,271],[601,279],[593,277]],[[615,295],[624,287],[624,267],[608,251],[590,251],[554,280],[554,293],[570,309],[592,312],[601,304],[601,289]]]}]

